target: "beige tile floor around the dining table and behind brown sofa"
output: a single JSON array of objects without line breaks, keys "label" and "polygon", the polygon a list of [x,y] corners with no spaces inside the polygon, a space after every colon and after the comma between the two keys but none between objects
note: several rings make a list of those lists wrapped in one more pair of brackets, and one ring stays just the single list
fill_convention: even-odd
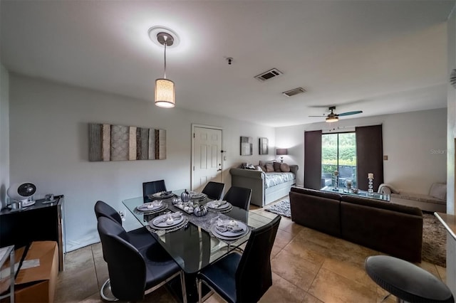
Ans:
[{"label": "beige tile floor around the dining table and behind brown sofa", "polygon": [[[264,216],[275,215],[251,208]],[[380,252],[305,228],[282,217],[271,253],[273,285],[260,302],[380,302],[387,294],[364,271],[364,260]],[[99,289],[108,278],[100,243],[66,254],[66,270],[58,275],[56,302],[102,302]],[[445,282],[445,267],[418,266]],[[165,287],[142,302],[176,302]],[[223,302],[213,294],[208,303]],[[385,302],[395,302],[390,296]]]}]

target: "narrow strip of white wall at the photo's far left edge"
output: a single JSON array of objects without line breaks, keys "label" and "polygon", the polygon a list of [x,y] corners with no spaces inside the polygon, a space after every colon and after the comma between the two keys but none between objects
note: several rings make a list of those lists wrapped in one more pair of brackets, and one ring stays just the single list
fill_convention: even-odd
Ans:
[{"label": "narrow strip of white wall at the photo's far left edge", "polygon": [[0,207],[6,206],[9,186],[9,74],[0,65]]}]

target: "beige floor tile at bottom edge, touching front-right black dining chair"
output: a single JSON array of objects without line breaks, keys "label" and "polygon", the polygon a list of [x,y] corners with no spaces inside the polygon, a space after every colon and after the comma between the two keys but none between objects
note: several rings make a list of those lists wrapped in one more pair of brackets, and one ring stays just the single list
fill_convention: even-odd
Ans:
[{"label": "beige floor tile at bottom edge, touching front-right black dining chair", "polygon": [[280,303],[280,302],[302,302],[306,292],[299,289],[295,285],[279,277],[279,275],[272,274],[272,286],[261,297],[259,302],[266,303]]}]

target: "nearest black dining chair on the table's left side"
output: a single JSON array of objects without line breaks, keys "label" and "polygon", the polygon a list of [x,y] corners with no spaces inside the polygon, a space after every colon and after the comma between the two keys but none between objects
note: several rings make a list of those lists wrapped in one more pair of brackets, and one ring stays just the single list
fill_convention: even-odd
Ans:
[{"label": "nearest black dining chair on the table's left side", "polygon": [[138,250],[122,226],[103,216],[98,218],[98,233],[115,299],[144,299],[145,294],[180,275],[182,298],[187,302],[184,273],[159,243]]}]

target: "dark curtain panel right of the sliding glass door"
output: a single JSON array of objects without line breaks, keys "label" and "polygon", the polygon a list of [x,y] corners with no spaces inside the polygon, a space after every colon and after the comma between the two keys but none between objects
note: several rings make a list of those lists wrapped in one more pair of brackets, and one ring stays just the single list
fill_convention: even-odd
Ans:
[{"label": "dark curtain panel right of the sliding glass door", "polygon": [[383,183],[382,126],[356,127],[356,161],[358,188],[368,190],[368,174],[373,174],[373,191]]}]

